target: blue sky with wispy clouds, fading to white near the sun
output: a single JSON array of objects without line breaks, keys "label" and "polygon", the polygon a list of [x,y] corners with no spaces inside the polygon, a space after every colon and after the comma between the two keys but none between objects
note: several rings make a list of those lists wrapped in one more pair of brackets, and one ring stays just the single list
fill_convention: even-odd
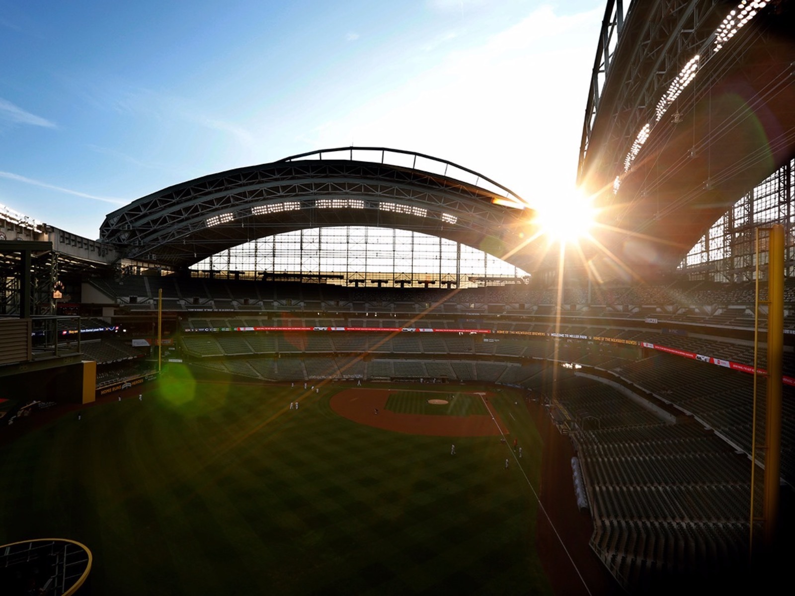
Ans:
[{"label": "blue sky with wispy clouds, fading to white near the sun", "polygon": [[573,188],[604,2],[0,0],[0,203],[89,238],[170,184],[347,145]]}]

